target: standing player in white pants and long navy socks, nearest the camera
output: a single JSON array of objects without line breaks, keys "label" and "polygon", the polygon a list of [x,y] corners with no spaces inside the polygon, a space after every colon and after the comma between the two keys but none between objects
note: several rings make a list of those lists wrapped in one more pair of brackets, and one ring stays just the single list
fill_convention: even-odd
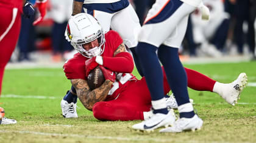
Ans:
[{"label": "standing player in white pants and long navy socks, nearest the camera", "polygon": [[[135,130],[154,130],[172,125],[160,132],[181,132],[202,127],[203,121],[195,115],[189,101],[187,76],[178,55],[187,29],[188,16],[197,7],[202,7],[202,16],[208,19],[209,10],[201,0],[157,0],[149,10],[138,35],[137,54],[151,92],[154,116],[133,125]],[[165,68],[169,86],[179,105],[180,118],[177,121],[166,108],[163,73],[158,58]]]}]

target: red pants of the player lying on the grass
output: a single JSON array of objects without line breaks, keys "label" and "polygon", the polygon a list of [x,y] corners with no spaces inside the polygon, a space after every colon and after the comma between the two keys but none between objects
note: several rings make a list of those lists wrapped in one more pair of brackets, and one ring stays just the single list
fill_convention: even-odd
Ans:
[{"label": "red pants of the player lying on the grass", "polygon": [[[188,87],[200,91],[212,91],[216,81],[201,73],[185,68],[188,76]],[[163,73],[165,94],[171,89],[165,73]],[[101,121],[143,120],[143,111],[151,108],[151,95],[145,78],[140,81],[126,83],[119,96],[113,101],[96,102],[93,106],[93,116]]]}]

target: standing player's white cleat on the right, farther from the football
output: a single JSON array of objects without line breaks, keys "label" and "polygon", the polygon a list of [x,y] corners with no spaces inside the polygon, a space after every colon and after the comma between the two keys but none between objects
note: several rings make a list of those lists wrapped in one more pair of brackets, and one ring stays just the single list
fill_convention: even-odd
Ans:
[{"label": "standing player's white cleat on the right, farther from the football", "polygon": [[195,131],[200,130],[203,121],[197,115],[193,118],[179,118],[172,127],[163,128],[160,133],[180,133],[182,131]]}]

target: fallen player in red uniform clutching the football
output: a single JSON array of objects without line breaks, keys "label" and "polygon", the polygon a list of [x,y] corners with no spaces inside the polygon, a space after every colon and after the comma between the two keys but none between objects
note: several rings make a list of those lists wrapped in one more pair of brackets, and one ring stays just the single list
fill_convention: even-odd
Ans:
[{"label": "fallen player in red uniform clutching the football", "polygon": [[[69,19],[66,32],[71,44],[79,53],[63,66],[66,77],[71,80],[74,87],[66,95],[71,97],[65,97],[61,102],[63,116],[77,118],[78,96],[84,107],[92,110],[94,117],[101,121],[150,118],[151,96],[146,81],[144,77],[138,80],[131,74],[133,59],[126,52],[118,33],[110,30],[104,35],[96,19],[86,13],[79,13]],[[106,80],[101,87],[90,90],[87,75],[98,65],[101,66]],[[214,91],[233,105],[246,84],[244,73],[240,74],[235,82],[221,84],[197,71],[188,68],[185,70],[188,87],[194,90]],[[170,88],[165,71],[163,75],[166,94]]]}]

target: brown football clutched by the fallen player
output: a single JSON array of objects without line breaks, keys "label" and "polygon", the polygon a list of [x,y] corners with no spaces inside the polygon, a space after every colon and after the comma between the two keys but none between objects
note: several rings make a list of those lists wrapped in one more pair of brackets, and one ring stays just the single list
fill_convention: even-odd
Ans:
[{"label": "brown football clutched by the fallen player", "polygon": [[105,78],[99,66],[91,70],[87,77],[87,82],[90,87],[90,90],[94,90],[95,88],[100,87],[104,83],[104,81]]}]

